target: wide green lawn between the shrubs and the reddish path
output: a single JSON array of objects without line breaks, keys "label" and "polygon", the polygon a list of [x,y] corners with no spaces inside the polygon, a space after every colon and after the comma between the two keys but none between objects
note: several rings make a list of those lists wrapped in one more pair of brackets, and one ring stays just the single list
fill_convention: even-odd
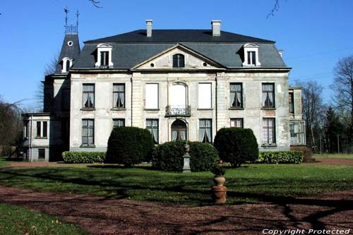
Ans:
[{"label": "wide green lawn between the shrubs and the reddish path", "polygon": [[[227,169],[227,203],[258,203],[353,188],[353,167],[315,164],[249,164]],[[155,171],[150,167],[37,167],[0,169],[0,184],[128,198],[209,205],[213,174]]]}]

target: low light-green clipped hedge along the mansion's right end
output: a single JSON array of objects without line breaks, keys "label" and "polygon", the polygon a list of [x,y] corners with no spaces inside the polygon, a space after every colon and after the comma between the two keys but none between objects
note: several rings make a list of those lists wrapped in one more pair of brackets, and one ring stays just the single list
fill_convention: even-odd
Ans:
[{"label": "low light-green clipped hedge along the mansion's right end", "polygon": [[256,162],[261,163],[294,163],[303,162],[304,154],[301,151],[274,151],[260,152]]}]

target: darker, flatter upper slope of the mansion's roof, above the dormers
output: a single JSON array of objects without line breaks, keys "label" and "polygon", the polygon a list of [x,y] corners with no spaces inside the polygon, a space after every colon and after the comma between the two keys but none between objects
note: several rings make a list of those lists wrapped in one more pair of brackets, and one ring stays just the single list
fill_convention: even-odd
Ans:
[{"label": "darker, flatter upper slope of the mansion's roof, above the dormers", "polygon": [[147,37],[146,30],[135,30],[112,37],[103,37],[90,42],[144,42],[144,43],[166,43],[166,42],[261,42],[275,43],[256,37],[238,35],[232,32],[221,31],[220,36],[213,37],[212,30],[152,30],[152,37]]}]

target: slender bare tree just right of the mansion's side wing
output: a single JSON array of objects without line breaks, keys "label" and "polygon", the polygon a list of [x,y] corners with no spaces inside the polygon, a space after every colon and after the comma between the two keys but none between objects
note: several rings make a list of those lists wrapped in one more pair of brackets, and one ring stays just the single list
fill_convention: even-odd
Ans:
[{"label": "slender bare tree just right of the mansion's side wing", "polygon": [[303,87],[302,105],[306,121],[307,144],[315,149],[318,135],[323,135],[323,120],[325,119],[325,106],[321,97],[323,87],[316,81],[301,82],[297,85]]}]

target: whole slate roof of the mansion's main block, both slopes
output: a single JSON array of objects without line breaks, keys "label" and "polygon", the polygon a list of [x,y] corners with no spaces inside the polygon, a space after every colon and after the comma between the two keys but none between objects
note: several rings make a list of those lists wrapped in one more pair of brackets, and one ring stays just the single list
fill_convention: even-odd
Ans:
[{"label": "whole slate roof of the mansion's main block, both slopes", "polygon": [[221,36],[213,37],[212,30],[152,30],[152,37],[146,36],[146,30],[136,30],[86,41],[73,68],[95,68],[97,44],[100,43],[113,47],[114,68],[133,68],[176,44],[183,44],[227,68],[244,68],[243,46],[251,42],[259,46],[261,68],[287,68],[277,53],[275,42],[225,31],[221,31]]}]

